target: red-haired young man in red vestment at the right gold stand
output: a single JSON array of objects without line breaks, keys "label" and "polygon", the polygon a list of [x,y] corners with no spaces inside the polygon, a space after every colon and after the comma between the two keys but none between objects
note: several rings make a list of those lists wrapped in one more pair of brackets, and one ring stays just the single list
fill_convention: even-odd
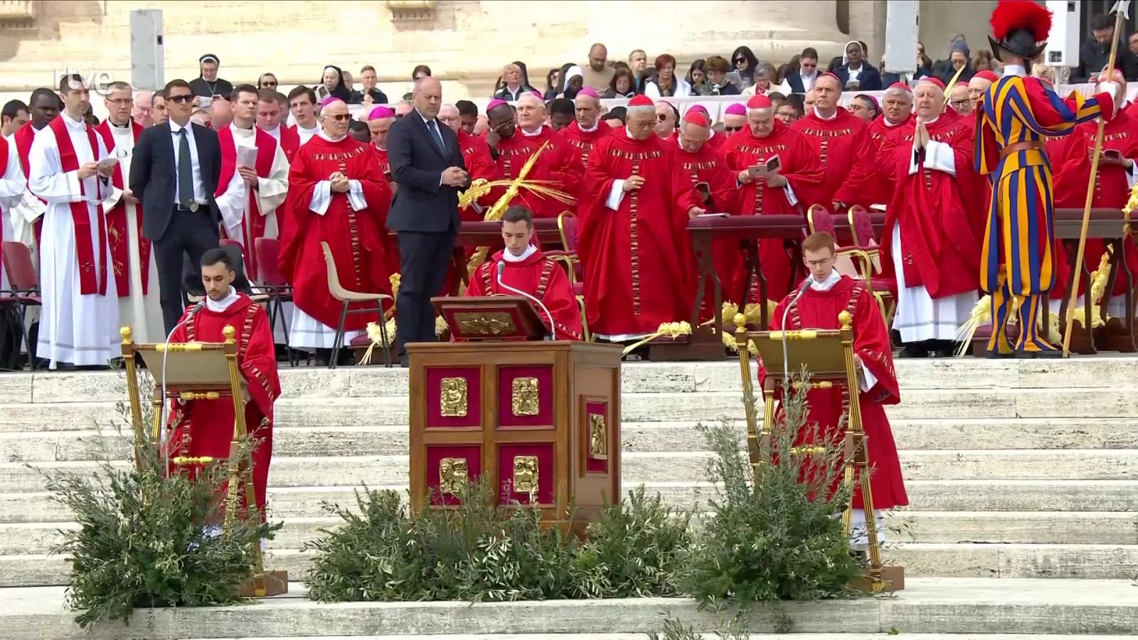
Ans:
[{"label": "red-haired young man in red vestment at the right gold stand", "polygon": [[[901,463],[897,458],[897,444],[893,442],[893,432],[884,407],[899,403],[901,397],[897,374],[893,371],[889,331],[877,303],[865,290],[863,282],[848,276],[839,276],[834,271],[834,239],[828,233],[814,233],[802,241],[802,262],[810,271],[809,287],[801,297],[791,294],[778,303],[770,315],[770,329],[839,329],[841,322],[838,314],[848,311],[853,315],[853,359],[859,387],[857,397],[861,410],[861,428],[866,435],[866,454],[869,468],[873,469],[869,484],[880,542],[884,532],[882,511],[909,503]],[[760,384],[765,376],[766,371],[760,367]],[[806,396],[809,405],[807,424],[817,424],[822,437],[830,442],[840,440],[844,433],[840,430],[844,417],[843,395],[844,389],[834,387],[810,389]],[[795,445],[811,444],[809,435],[808,430],[800,432]],[[840,481],[841,474],[835,481],[835,490]],[[856,550],[865,550],[868,536],[865,532],[860,491],[853,491],[852,508],[850,541]]]}]

